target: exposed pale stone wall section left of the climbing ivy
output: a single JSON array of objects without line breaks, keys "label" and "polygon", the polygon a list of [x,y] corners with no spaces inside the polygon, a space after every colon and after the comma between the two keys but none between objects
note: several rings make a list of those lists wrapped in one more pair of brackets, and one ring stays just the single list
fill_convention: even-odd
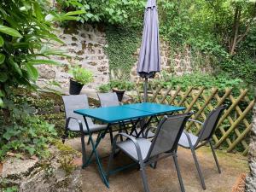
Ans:
[{"label": "exposed pale stone wall section left of the climbing ivy", "polygon": [[94,82],[85,85],[84,89],[95,89],[100,84],[108,82],[108,57],[103,51],[107,44],[106,35],[100,26],[70,24],[65,29],[58,28],[56,33],[64,44],[55,44],[53,49],[65,50],[71,57],[52,57],[53,60],[63,64],[61,67],[46,65],[38,67],[40,73],[38,84],[44,85],[50,79],[55,79],[63,89],[67,89],[71,77],[68,73],[68,64],[79,64],[93,72]]}]

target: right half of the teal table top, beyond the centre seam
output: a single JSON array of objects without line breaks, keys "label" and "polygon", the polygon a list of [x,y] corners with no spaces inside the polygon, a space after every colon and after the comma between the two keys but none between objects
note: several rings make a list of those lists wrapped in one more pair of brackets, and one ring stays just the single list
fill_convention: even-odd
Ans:
[{"label": "right half of the teal table top, beyond the centre seam", "polygon": [[146,111],[149,113],[154,113],[155,115],[160,113],[172,113],[172,112],[182,111],[186,109],[184,107],[164,105],[164,104],[159,104],[154,102],[134,103],[134,104],[123,105],[123,107],[133,108],[140,111]]}]

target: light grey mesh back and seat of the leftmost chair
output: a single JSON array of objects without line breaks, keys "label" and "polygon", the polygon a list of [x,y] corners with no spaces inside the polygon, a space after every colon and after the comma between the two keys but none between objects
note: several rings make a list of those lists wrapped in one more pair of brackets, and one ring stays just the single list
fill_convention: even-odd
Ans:
[{"label": "light grey mesh back and seat of the leftmost chair", "polygon": [[[73,110],[79,109],[79,108],[89,108],[87,96],[86,95],[62,96],[62,100],[64,102],[66,120],[68,117],[74,117],[76,119],[81,120],[83,123],[83,127],[86,127],[84,125],[83,116],[77,113],[73,113]],[[90,118],[86,118],[86,120],[89,126],[93,125],[93,122]],[[78,131],[77,127],[78,127],[78,122],[71,119],[69,122],[69,129],[73,131]]]}]

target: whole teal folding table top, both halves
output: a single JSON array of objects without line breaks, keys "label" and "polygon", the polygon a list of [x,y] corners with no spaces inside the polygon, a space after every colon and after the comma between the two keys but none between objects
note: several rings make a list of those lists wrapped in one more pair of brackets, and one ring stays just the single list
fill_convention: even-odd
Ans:
[{"label": "whole teal folding table top, both halves", "polygon": [[98,119],[106,123],[116,123],[127,119],[138,119],[161,113],[172,113],[184,110],[183,107],[168,106],[152,102],[127,104],[107,108],[86,108],[74,110],[74,113]]}]

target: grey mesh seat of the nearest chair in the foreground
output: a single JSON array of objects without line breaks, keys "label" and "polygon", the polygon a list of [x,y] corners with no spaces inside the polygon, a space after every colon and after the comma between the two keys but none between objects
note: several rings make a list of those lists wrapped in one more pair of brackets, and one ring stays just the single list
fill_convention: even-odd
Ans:
[{"label": "grey mesh seat of the nearest chair in the foreground", "polygon": [[[143,160],[145,160],[148,155],[151,142],[145,138],[137,138],[136,140],[139,147],[141,148]],[[137,149],[135,144],[130,139],[126,140],[125,142],[116,143],[116,145],[121,149],[121,151],[130,156],[131,159],[138,161]]]}]

